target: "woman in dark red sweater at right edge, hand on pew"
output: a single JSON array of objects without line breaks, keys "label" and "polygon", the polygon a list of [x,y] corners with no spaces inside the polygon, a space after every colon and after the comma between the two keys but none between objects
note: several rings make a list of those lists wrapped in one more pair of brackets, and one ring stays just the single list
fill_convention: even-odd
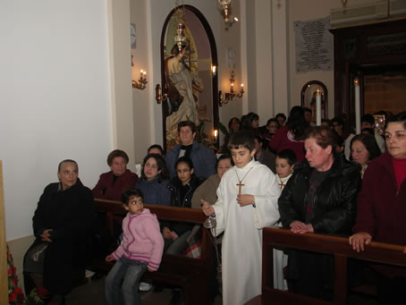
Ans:
[{"label": "woman in dark red sweater at right edge, hand on pew", "polygon": [[[406,244],[406,112],[389,117],[385,140],[387,151],[369,163],[359,192],[357,220],[349,240],[357,251],[372,240]],[[406,269],[374,268],[379,304],[403,304]]]}]

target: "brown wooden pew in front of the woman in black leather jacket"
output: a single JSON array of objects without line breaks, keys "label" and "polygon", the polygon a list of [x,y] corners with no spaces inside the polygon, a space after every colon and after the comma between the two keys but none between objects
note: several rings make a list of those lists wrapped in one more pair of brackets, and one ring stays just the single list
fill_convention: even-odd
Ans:
[{"label": "brown wooden pew in front of the woman in black leather jacket", "polygon": [[[292,292],[274,289],[274,258],[275,247],[309,250],[334,256],[334,301],[322,301]],[[267,227],[263,230],[262,248],[262,295],[247,302],[246,305],[259,304],[300,304],[327,305],[347,304],[347,266],[349,258],[357,258],[369,262],[385,263],[406,267],[406,254],[403,247],[372,241],[364,251],[352,250],[348,238],[306,233],[295,234],[290,230],[278,227]]]}]

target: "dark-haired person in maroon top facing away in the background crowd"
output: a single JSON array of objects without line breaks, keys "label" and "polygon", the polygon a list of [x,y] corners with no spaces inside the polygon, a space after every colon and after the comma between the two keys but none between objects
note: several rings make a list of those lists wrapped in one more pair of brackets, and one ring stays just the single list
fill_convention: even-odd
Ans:
[{"label": "dark-haired person in maroon top facing away in the background crowd", "polygon": [[292,149],[298,162],[304,159],[303,134],[309,127],[304,117],[303,108],[294,106],[289,114],[288,122],[276,131],[275,136],[269,141],[268,147],[279,152],[283,149]]}]

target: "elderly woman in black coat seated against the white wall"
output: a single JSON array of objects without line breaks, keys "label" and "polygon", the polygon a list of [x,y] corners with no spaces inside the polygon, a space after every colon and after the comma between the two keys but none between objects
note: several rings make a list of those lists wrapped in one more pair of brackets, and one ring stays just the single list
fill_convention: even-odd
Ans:
[{"label": "elderly woman in black coat seated against the white wall", "polygon": [[72,283],[85,275],[86,237],[93,218],[93,194],[70,159],[58,166],[59,182],[47,185],[32,218],[36,240],[24,257],[27,293],[44,286],[51,301],[63,304]]}]

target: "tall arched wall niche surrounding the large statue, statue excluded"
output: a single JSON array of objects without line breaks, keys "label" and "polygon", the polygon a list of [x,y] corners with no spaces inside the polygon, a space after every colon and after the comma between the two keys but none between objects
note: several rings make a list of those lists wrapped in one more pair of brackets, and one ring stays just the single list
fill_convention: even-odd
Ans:
[{"label": "tall arched wall niche surrounding the large statue, statue excluded", "polygon": [[[217,73],[212,72],[212,66],[218,67],[216,41],[205,16],[191,5],[181,5],[178,8],[174,8],[165,19],[160,44],[161,88],[167,92],[168,83],[167,75],[165,75],[165,60],[172,56],[171,49],[175,44],[173,37],[176,34],[175,30],[179,22],[175,15],[175,13],[179,13],[176,12],[177,9],[183,14],[186,37],[190,39],[190,47],[193,52],[190,55],[190,60],[186,61],[186,64],[190,67],[190,73],[196,75],[203,85],[201,92],[194,90],[194,95],[198,97],[196,105],[198,107],[199,120],[196,123],[199,127],[199,123],[204,122],[203,132],[207,137],[205,140],[213,140],[213,131],[219,120]],[[167,118],[168,115],[173,114],[169,114],[171,106],[168,103],[169,99],[162,103],[165,150],[172,148],[176,144],[174,139],[175,130],[173,129],[174,123],[182,121],[182,116],[178,120],[174,117],[175,115],[173,115],[173,120]],[[201,133],[199,135],[201,136]]]}]

